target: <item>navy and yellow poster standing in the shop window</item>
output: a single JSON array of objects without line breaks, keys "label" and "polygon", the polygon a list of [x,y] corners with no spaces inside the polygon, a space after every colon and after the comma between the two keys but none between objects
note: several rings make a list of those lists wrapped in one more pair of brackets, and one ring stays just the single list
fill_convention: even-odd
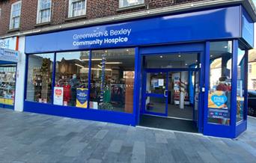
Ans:
[{"label": "navy and yellow poster standing in the shop window", "polygon": [[88,89],[77,88],[76,89],[76,107],[87,108],[88,103]]}]

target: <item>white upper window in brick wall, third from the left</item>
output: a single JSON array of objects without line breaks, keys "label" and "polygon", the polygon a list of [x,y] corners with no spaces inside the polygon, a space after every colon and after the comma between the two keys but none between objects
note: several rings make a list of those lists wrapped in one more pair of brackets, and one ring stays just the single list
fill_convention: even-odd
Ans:
[{"label": "white upper window in brick wall, third from the left", "polygon": [[70,0],[68,17],[82,16],[86,13],[86,0]]}]

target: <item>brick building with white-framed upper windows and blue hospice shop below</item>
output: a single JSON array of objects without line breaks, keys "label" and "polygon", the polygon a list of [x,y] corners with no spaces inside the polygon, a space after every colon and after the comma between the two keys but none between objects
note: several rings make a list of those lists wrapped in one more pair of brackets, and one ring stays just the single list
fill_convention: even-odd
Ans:
[{"label": "brick building with white-framed upper windows and blue hospice shop below", "polygon": [[23,0],[0,10],[1,40],[21,40],[16,110],[225,138],[246,130],[252,1]]}]

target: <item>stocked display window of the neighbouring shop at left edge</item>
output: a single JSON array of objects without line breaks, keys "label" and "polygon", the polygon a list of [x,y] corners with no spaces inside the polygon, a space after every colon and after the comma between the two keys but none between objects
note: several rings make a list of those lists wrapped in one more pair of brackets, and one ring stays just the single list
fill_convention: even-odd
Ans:
[{"label": "stocked display window of the neighbouring shop at left edge", "polygon": [[0,104],[13,105],[16,65],[0,65]]}]

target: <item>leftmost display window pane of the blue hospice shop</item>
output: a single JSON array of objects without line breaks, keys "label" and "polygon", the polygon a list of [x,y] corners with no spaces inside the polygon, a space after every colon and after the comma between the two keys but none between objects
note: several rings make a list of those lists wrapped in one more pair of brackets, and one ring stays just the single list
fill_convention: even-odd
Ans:
[{"label": "leftmost display window pane of the blue hospice shop", "polygon": [[54,54],[28,55],[26,100],[52,103],[52,63]]}]

